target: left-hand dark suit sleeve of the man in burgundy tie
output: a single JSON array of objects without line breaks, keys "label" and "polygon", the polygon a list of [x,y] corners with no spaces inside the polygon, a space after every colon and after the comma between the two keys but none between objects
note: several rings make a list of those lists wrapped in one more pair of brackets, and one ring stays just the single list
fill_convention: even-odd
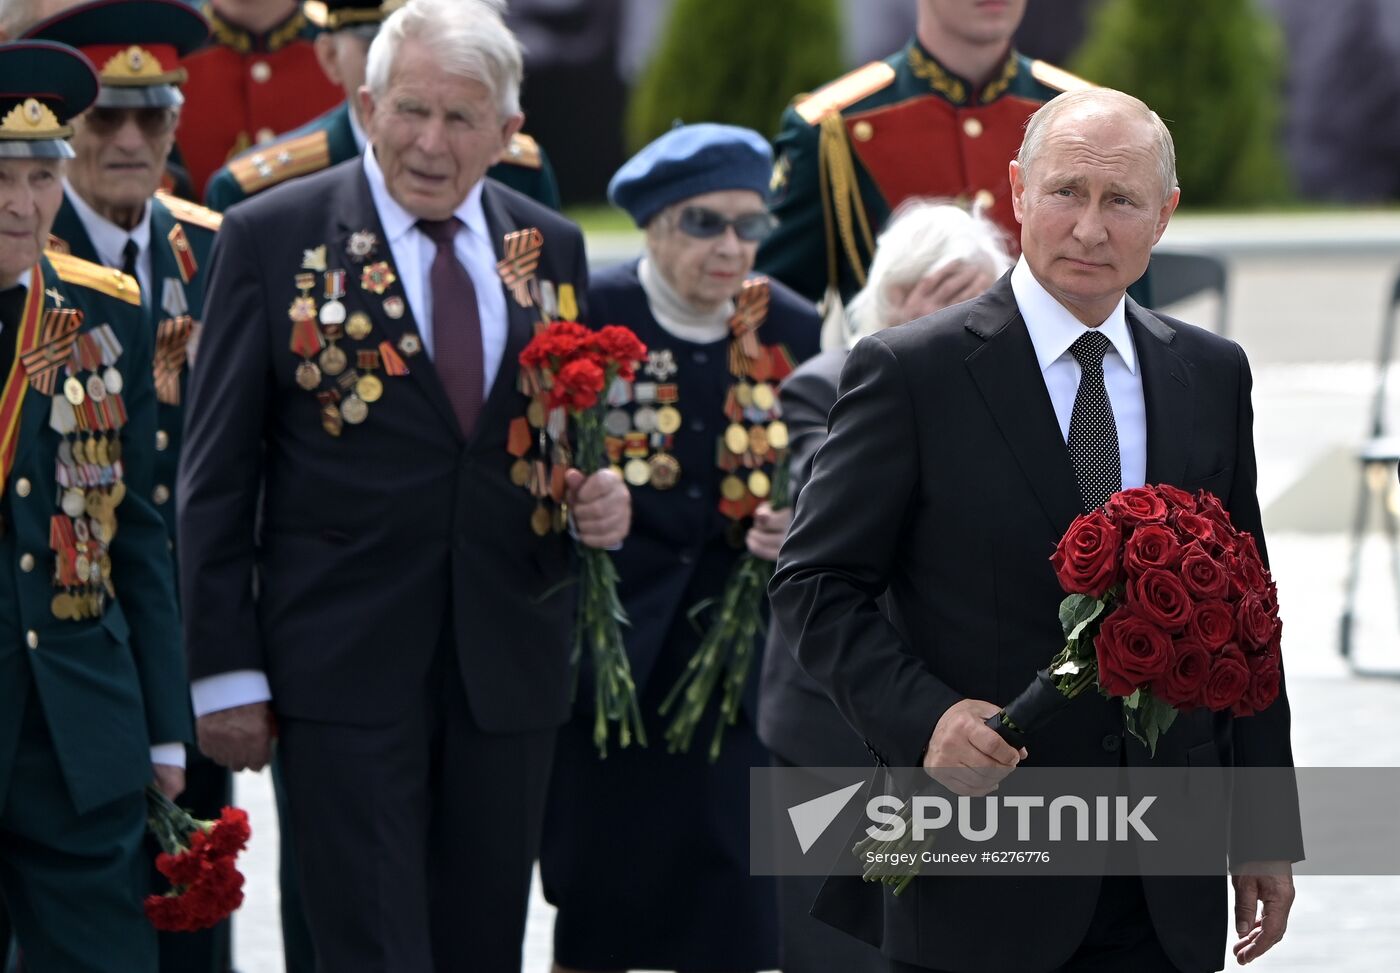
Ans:
[{"label": "left-hand dark suit sleeve of the man in burgundy tie", "polygon": [[179,568],[192,679],[265,669],[253,524],[273,379],[258,242],[237,214],[210,259],[179,468]]}]

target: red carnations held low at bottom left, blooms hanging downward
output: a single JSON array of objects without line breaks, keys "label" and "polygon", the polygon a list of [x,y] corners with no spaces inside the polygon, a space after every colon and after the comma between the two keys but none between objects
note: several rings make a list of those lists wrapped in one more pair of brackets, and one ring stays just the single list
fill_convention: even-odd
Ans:
[{"label": "red carnations held low at bottom left, blooms hanging downward", "polygon": [[146,788],[146,825],[161,853],[155,869],[171,883],[146,897],[146,917],[162,932],[195,932],[228,918],[244,904],[238,853],[248,847],[248,815],[224,808],[218,820],[200,820],[155,787]]}]

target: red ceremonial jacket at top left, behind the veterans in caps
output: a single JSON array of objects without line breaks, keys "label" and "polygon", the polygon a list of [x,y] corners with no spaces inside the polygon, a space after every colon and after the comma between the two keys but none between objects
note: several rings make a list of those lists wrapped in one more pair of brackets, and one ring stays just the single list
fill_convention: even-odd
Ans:
[{"label": "red ceremonial jacket at top left, behind the veterans in caps", "polygon": [[214,171],[253,144],[265,144],[344,99],[321,70],[312,45],[318,28],[298,7],[284,22],[255,35],[202,7],[210,42],[181,64],[185,108],[176,141],[196,199]]}]

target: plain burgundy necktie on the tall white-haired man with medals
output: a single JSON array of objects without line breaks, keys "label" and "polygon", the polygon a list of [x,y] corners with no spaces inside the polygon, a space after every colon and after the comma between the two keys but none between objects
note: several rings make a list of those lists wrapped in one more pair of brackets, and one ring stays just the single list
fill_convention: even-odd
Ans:
[{"label": "plain burgundy necktie on the tall white-haired man with medals", "polygon": [[454,249],[461,225],[462,221],[456,217],[419,220],[419,230],[438,248],[428,272],[428,286],[433,288],[433,365],[452,402],[462,435],[470,438],[482,413],[486,367],[476,287]]}]

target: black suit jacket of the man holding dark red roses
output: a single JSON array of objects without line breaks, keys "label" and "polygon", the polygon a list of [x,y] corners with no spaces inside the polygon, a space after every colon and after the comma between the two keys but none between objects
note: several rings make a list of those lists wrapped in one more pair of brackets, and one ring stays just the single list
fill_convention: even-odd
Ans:
[{"label": "black suit jacket of the man holding dark red roses", "polygon": [[[1215,493],[1263,550],[1243,351],[1131,300],[1128,322],[1147,403],[1147,482]],[[872,752],[918,766],[949,706],[1009,701],[1063,645],[1063,592],[1049,559],[1081,511],[1007,276],[850,354],[830,437],[778,561],[774,616]],[[1284,693],[1246,720],[1182,714],[1156,763],[1292,766],[1288,717]],[[1026,766],[1114,766],[1121,738],[1121,707],[1081,697],[1030,741]],[[1133,739],[1121,746],[1130,764],[1148,762]],[[1231,854],[1296,860],[1299,846],[1250,847],[1236,834]],[[881,931],[857,902],[878,910],[878,886],[833,879],[818,914],[882,938],[906,962],[1026,973],[1070,956],[1098,885],[1092,876],[918,879],[913,895],[886,896]],[[1184,970],[1218,969],[1224,879],[1148,876],[1144,886],[1168,955]],[[1008,914],[1009,903],[1021,907]],[[1008,921],[1016,935],[1005,934]]]}]

